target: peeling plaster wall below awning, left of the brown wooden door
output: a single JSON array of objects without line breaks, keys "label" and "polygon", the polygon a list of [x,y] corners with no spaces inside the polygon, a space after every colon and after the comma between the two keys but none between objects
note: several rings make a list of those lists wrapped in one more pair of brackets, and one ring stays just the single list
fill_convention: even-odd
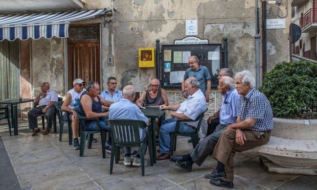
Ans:
[{"label": "peeling plaster wall below awning, left of the brown wooden door", "polygon": [[64,91],[64,43],[61,38],[32,40],[32,95],[35,96],[42,82],[63,96]]}]

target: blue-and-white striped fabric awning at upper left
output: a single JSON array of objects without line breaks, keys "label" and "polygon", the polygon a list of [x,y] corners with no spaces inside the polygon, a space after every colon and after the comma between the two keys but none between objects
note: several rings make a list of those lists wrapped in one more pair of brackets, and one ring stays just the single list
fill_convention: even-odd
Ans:
[{"label": "blue-and-white striped fabric awning at upper left", "polygon": [[0,15],[0,41],[53,36],[67,38],[71,21],[94,18],[107,11],[109,9]]}]

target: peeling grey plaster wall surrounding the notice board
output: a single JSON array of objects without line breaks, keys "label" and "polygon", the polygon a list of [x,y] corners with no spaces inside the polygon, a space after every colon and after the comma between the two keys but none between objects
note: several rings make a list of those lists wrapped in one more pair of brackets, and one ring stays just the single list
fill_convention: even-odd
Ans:
[{"label": "peeling grey plaster wall surrounding the notice board", "polygon": [[[267,31],[268,70],[277,62],[289,60],[290,3],[282,2],[280,6],[267,6],[268,18],[286,16],[286,29]],[[151,78],[156,77],[155,68],[138,67],[138,49],[155,47],[155,39],[160,39],[161,44],[173,44],[175,39],[185,37],[186,19],[198,19],[198,37],[208,38],[210,43],[222,43],[222,38],[228,37],[228,65],[234,73],[243,69],[255,73],[253,0],[129,0],[115,1],[115,8],[117,11],[109,27],[114,41],[108,44],[108,51],[115,49],[115,53],[111,53],[115,66],[103,66],[103,76],[116,74],[119,87],[127,84],[133,84],[137,90],[147,87]]]}]

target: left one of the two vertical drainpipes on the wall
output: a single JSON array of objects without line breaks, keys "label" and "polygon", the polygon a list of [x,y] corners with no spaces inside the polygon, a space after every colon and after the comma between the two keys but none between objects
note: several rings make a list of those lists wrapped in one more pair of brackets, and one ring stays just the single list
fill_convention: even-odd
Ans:
[{"label": "left one of the two vertical drainpipes on the wall", "polygon": [[255,0],[256,11],[256,29],[255,29],[255,73],[256,73],[256,87],[260,86],[260,27],[259,27],[259,2]]}]

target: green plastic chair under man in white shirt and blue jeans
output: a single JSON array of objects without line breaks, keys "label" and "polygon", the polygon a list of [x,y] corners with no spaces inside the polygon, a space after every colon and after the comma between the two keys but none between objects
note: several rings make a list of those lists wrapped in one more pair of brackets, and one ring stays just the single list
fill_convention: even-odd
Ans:
[{"label": "green plastic chair under man in white shirt and blue jeans", "polygon": [[[170,155],[173,155],[174,151],[176,150],[176,137],[177,136],[189,136],[192,138],[193,148],[195,148],[197,146],[197,144],[199,143],[198,131],[200,129],[200,124],[201,124],[203,115],[205,115],[205,112],[200,114],[196,118],[196,120],[177,120],[176,121],[175,131],[171,133]],[[181,133],[181,132],[179,132],[180,123],[182,123],[182,122],[196,122],[196,121],[199,121],[198,125],[197,125],[198,127],[194,130],[193,133]]]}]

